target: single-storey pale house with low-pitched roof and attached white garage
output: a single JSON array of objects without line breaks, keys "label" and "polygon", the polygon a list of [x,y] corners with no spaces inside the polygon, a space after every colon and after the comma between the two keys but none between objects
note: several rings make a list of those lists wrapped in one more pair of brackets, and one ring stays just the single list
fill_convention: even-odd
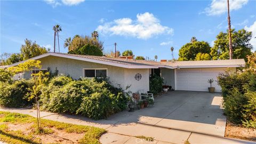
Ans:
[{"label": "single-storey pale house with low-pitched roof and attached white garage", "polygon": [[[235,69],[245,65],[244,59],[156,62],[53,52],[31,59],[42,62],[40,70],[50,69],[54,72],[57,68],[59,74],[69,75],[74,79],[107,76],[115,86],[125,88],[131,85],[132,92],[149,91],[149,76],[152,73],[161,75],[164,82],[171,85],[174,90],[208,91],[208,79],[217,80],[218,74],[225,72],[227,68]],[[22,62],[25,61],[13,63],[9,67]],[[31,72],[25,73],[24,77],[29,78]],[[215,91],[221,91],[217,82],[214,82],[213,86]]]}]

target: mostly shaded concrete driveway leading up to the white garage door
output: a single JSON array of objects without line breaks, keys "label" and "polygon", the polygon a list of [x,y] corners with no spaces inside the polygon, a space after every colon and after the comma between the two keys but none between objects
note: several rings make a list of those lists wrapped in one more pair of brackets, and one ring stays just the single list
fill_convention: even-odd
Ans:
[{"label": "mostly shaded concrete driveway leading up to the white garage door", "polygon": [[[139,123],[223,137],[226,117],[222,115],[221,98],[220,93],[172,91],[156,98],[154,106],[131,113],[123,111],[108,120],[117,121],[116,125]],[[109,127],[108,130],[117,132],[123,128]]]}]

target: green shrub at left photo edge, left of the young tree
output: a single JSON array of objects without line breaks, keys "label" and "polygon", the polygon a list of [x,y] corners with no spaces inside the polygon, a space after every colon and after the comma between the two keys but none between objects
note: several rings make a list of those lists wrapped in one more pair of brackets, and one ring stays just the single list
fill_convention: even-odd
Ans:
[{"label": "green shrub at left photo edge, left of the young tree", "polygon": [[14,108],[32,105],[33,101],[27,97],[31,86],[32,82],[24,79],[12,84],[0,82],[0,105]]}]

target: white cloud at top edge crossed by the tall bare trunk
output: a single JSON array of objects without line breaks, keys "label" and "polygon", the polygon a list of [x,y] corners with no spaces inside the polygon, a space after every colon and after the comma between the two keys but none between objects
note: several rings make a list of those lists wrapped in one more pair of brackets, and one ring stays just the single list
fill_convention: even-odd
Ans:
[{"label": "white cloud at top edge crossed by the tall bare trunk", "polygon": [[[249,0],[230,0],[229,1],[229,10],[238,10],[247,4]],[[206,7],[203,13],[207,15],[220,15],[227,12],[227,1],[226,0],[212,0],[212,3],[209,7]]]}]

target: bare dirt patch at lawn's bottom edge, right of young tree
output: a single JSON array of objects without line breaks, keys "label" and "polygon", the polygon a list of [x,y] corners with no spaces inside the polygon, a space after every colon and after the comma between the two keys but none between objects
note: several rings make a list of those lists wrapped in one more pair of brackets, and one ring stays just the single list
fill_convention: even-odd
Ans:
[{"label": "bare dirt patch at lawn's bottom edge, right of young tree", "polygon": [[[52,129],[52,128],[51,128]],[[84,133],[67,133],[62,130],[52,129],[52,134],[37,135],[42,143],[78,143],[78,140],[84,137]]]}]

